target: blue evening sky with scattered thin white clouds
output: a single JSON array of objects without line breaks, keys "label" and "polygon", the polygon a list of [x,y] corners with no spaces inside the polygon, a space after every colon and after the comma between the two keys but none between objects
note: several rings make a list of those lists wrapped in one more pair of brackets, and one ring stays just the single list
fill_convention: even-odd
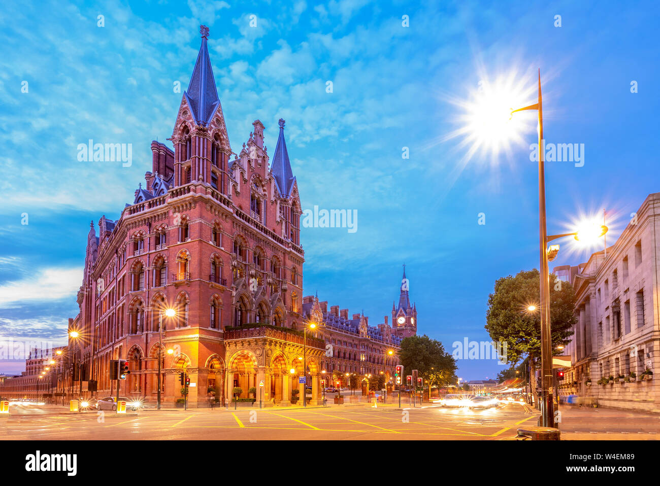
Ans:
[{"label": "blue evening sky with scattered thin white clouds", "polygon": [[[515,72],[531,104],[540,68],[546,140],[585,146],[584,166],[546,167],[548,232],[607,208],[613,242],[630,212],[660,191],[650,150],[660,109],[658,14],[653,2],[603,1],[5,5],[0,336],[63,342],[77,314],[89,222],[118,217],[151,168],[151,140],[172,135],[182,96],[173,86],[187,87],[203,23],[234,151],[257,118],[272,151],[282,117],[304,208],[358,211],[355,233],[304,229],[305,293],[364,309],[378,324],[405,262],[420,334],[449,350],[465,337],[489,340],[494,281],[538,267],[536,122],[521,115],[508,152],[468,159],[469,147],[450,136],[462,101],[480,81]],[[77,144],[89,138],[132,144],[132,165],[78,162]],[[562,248],[555,263],[586,258]],[[0,362],[0,372],[17,369]],[[501,369],[459,361],[464,379]]]}]

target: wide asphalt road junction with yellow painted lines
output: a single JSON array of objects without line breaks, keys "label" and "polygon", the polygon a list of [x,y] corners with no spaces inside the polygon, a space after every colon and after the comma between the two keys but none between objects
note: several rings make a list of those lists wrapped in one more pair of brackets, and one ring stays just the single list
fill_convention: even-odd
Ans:
[{"label": "wide asphalt road junction with yellow painted lines", "polygon": [[48,406],[14,410],[11,417],[2,419],[0,440],[502,440],[513,439],[522,423],[536,422],[535,413],[519,404],[489,410],[395,410],[394,406],[374,409],[361,405],[127,415],[60,410]]}]

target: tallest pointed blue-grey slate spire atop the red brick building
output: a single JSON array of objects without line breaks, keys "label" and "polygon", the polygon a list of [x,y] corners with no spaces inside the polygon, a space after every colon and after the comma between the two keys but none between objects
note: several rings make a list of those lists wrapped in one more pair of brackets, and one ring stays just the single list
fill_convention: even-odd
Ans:
[{"label": "tallest pointed blue-grey slate spire atop the red brick building", "polygon": [[220,106],[220,98],[218,98],[207,47],[209,28],[201,25],[199,33],[202,34],[202,45],[199,47],[197,62],[188,84],[188,90],[183,92],[183,96],[190,106],[195,123],[205,126],[210,123],[213,114]]}]

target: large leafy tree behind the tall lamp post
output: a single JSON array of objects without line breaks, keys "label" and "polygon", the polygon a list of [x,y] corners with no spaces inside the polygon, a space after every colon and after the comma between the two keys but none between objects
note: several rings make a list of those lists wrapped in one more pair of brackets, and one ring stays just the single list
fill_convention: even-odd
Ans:
[{"label": "large leafy tree behind the tall lamp post", "polygon": [[[558,283],[560,282],[560,283]],[[541,355],[541,319],[539,316],[539,270],[522,270],[515,277],[499,278],[495,291],[488,295],[486,330],[490,338],[506,343],[507,363],[518,363],[525,355]],[[527,307],[535,305],[535,311]],[[568,282],[550,275],[550,328],[552,349],[566,346],[576,323],[575,294]]]}]

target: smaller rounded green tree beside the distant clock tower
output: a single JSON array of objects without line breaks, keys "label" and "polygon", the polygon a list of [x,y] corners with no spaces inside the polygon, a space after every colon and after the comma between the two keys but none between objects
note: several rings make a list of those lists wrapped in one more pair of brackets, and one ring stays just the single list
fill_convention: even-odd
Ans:
[{"label": "smaller rounded green tree beside the distant clock tower", "polygon": [[[401,340],[399,359],[406,374],[413,369],[429,385],[442,386],[456,381],[456,361],[445,351],[440,341],[424,336],[410,336]],[[416,386],[416,384],[415,384]]]}]

